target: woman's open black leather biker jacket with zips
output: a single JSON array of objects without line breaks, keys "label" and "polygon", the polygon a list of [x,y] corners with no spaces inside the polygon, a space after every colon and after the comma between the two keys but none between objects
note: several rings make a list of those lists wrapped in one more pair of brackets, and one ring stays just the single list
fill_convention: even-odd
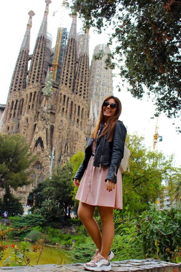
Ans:
[{"label": "woman's open black leather biker jacket with zips", "polygon": [[[100,125],[100,133],[103,130],[104,126]],[[99,134],[100,134],[99,133]],[[121,163],[121,159],[124,156],[124,147],[125,147],[125,139],[126,139],[126,128],[121,121],[117,121],[115,123],[114,134],[112,142],[108,143],[108,139],[104,137],[97,138],[96,146],[95,146],[95,155],[94,155],[94,166],[105,167],[110,166],[106,179],[110,179],[117,182],[117,172]],[[89,159],[92,155],[91,144],[95,141],[94,139],[90,139],[87,147],[85,149],[84,160],[81,163],[79,169],[74,178],[81,180]],[[73,178],[73,179],[74,179]],[[105,179],[105,182],[106,182]]]}]

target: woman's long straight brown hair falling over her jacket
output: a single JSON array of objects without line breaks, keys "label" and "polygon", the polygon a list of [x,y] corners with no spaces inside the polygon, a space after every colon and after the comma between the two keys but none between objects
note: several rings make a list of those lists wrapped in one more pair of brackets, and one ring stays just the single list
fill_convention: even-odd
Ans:
[{"label": "woman's long straight brown hair falling over her jacket", "polygon": [[[114,128],[115,128],[115,123],[116,121],[118,120],[118,118],[120,117],[120,114],[121,114],[121,110],[122,110],[122,105],[121,105],[121,101],[119,98],[113,96],[113,95],[110,95],[108,97],[106,97],[103,101],[103,103],[107,100],[109,100],[110,98],[112,99],[115,99],[116,101],[116,104],[117,104],[117,107],[116,107],[116,112],[113,116],[111,116],[108,120],[107,120],[107,124],[105,125],[105,127],[103,128],[103,131],[102,133],[98,136],[98,137],[102,137],[106,134],[106,138],[105,139],[108,139],[108,142],[112,142],[112,139],[113,139],[113,132],[114,132]],[[106,120],[105,120],[105,117],[104,117],[104,114],[103,114],[103,103],[102,103],[102,107],[101,107],[101,111],[100,111],[100,114],[99,114],[99,118],[98,118],[98,121],[97,121],[97,124],[93,130],[93,132],[91,133],[90,137],[91,138],[94,138],[96,139],[97,138],[97,133],[98,131],[100,130],[100,124],[105,124]]]}]

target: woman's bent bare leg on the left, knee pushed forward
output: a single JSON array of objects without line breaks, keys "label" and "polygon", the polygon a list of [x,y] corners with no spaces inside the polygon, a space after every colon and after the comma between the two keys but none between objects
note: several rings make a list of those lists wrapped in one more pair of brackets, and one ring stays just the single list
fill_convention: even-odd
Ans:
[{"label": "woman's bent bare leg on the left, knee pushed forward", "polygon": [[82,221],[86,231],[94,241],[96,247],[101,250],[102,238],[99,226],[93,217],[94,210],[95,206],[83,203],[81,201],[79,202],[78,217]]}]

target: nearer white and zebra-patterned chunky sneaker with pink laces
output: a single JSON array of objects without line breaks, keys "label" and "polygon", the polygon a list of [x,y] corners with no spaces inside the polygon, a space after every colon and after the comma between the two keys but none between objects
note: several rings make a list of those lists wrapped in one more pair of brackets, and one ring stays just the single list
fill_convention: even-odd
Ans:
[{"label": "nearer white and zebra-patterned chunky sneaker with pink laces", "polygon": [[100,253],[97,253],[97,256],[94,257],[89,263],[84,264],[84,268],[90,271],[110,271],[111,265],[109,258],[105,260]]}]

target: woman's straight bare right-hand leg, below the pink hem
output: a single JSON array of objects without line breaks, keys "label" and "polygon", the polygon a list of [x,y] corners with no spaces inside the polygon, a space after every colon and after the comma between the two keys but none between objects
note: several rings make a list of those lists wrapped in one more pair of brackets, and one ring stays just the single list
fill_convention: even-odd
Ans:
[{"label": "woman's straight bare right-hand leg, below the pink hem", "polygon": [[115,232],[113,209],[111,207],[98,206],[98,211],[102,223],[101,255],[107,260]]}]

